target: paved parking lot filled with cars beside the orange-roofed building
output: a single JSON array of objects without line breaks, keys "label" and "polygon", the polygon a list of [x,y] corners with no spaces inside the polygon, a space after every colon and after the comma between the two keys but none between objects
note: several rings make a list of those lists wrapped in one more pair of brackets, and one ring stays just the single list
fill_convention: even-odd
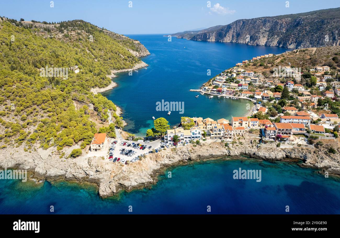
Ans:
[{"label": "paved parking lot filled with cars beside the orange-roofed building", "polygon": [[111,142],[109,142],[109,149],[105,159],[114,163],[135,163],[140,157],[148,156],[150,151],[151,153],[157,153],[156,151],[163,148],[166,147],[160,143],[160,140],[148,143],[112,139]]}]

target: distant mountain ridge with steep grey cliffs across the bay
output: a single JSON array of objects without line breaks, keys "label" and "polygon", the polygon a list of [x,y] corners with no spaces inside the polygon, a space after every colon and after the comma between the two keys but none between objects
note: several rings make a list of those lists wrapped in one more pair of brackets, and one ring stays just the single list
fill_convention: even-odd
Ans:
[{"label": "distant mountain ridge with steep grey cliffs across the bay", "polygon": [[176,33],[177,38],[248,45],[308,48],[339,45],[340,8],[239,19],[225,26]]}]

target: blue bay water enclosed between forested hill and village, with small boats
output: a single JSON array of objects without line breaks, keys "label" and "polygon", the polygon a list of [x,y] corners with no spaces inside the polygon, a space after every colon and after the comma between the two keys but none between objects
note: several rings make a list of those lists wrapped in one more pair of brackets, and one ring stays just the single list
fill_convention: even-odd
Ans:
[{"label": "blue bay water enclosed between forested hill and village, with small boats", "polygon": [[[279,54],[286,49],[245,44],[198,42],[168,38],[163,35],[128,35],[138,39],[151,55],[142,60],[148,69],[117,74],[117,88],[104,92],[108,99],[123,109],[123,118],[128,125],[124,130],[145,136],[153,127],[152,117],[165,117],[170,125],[180,122],[182,116],[210,117],[212,119],[243,116],[252,103],[249,100],[232,100],[190,92],[203,83],[245,59],[268,53]],[[185,47],[185,48],[184,48]],[[207,75],[207,70],[211,75]],[[156,102],[184,102],[184,113],[156,111]],[[247,108],[248,104],[248,108]]]}]

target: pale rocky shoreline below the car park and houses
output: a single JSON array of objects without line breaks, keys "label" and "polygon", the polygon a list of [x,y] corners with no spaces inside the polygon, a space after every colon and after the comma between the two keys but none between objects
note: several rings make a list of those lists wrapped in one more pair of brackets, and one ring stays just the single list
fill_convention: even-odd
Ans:
[{"label": "pale rocky shoreline below the car park and houses", "polygon": [[242,157],[246,156],[267,161],[301,161],[301,167],[319,169],[319,173],[340,175],[340,160],[337,155],[304,147],[256,148],[248,144],[227,148],[223,143],[204,142],[196,147],[188,145],[163,150],[125,166],[102,158],[88,158],[86,155],[76,159],[60,159],[53,153],[50,153],[48,158],[43,158],[39,150],[24,153],[26,154],[8,153],[9,156],[5,156],[5,152],[2,153],[0,167],[27,169],[34,173],[33,177],[37,180],[63,179],[94,183],[99,187],[99,195],[102,198],[114,196],[121,190],[148,188],[157,183],[158,175],[163,174],[165,169],[198,160],[243,159]]}]

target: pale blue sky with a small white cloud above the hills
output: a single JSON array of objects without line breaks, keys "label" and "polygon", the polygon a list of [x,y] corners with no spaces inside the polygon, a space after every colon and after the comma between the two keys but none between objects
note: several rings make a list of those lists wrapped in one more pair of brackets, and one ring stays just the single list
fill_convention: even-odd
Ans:
[{"label": "pale blue sky with a small white cloud above the hills", "polygon": [[[120,34],[176,33],[226,25],[237,19],[337,8],[339,0],[10,0],[0,15],[19,20],[83,19]],[[131,6],[131,4],[130,4]]]}]

